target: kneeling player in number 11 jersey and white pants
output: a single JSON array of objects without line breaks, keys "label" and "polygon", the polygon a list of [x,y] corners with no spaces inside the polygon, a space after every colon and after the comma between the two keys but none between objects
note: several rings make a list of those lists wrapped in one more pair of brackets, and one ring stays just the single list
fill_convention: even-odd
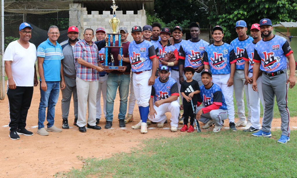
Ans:
[{"label": "kneeling player in number 11 jersey and white pants", "polygon": [[151,89],[149,120],[157,122],[157,127],[163,127],[166,121],[165,113],[170,112],[171,132],[176,132],[179,114],[179,103],[176,100],[179,94],[177,83],[173,78],[169,77],[169,74],[168,66],[163,65],[159,68],[159,77],[155,79]]}]

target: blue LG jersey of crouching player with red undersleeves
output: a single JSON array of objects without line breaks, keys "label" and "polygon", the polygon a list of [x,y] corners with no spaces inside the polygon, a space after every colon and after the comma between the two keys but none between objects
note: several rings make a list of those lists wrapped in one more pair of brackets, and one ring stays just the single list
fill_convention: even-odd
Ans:
[{"label": "blue LG jersey of crouching player with red undersleeves", "polygon": [[209,89],[206,89],[204,85],[200,86],[200,97],[205,107],[216,104],[221,105],[219,109],[227,110],[227,105],[225,102],[225,97],[222,93],[222,89],[217,84],[212,84]]}]

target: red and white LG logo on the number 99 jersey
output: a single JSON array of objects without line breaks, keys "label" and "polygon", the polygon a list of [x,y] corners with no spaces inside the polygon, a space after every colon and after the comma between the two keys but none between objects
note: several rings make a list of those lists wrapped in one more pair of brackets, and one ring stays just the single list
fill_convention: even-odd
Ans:
[{"label": "red and white LG logo on the number 99 jersey", "polygon": [[264,59],[261,58],[261,64],[265,68],[266,71],[273,71],[279,67],[280,57],[275,57],[274,52],[262,52],[264,55]]}]

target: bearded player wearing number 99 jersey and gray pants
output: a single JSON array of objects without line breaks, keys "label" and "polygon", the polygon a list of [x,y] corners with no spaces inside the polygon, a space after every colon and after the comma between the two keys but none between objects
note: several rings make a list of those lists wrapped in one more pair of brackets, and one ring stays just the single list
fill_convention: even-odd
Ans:
[{"label": "bearded player wearing number 99 jersey and gray pants", "polygon": [[[271,137],[274,96],[276,96],[282,130],[281,137],[277,142],[287,143],[290,141],[290,114],[287,106],[288,83],[290,83],[290,88],[295,85],[293,51],[285,38],[272,33],[273,27],[270,19],[261,19],[259,24],[263,40],[260,40],[255,46],[252,88],[257,91],[256,80],[260,68],[263,71],[262,91],[265,91],[265,95],[263,95],[265,110],[262,129],[252,135]],[[287,75],[287,59],[289,61],[290,77]]]}]

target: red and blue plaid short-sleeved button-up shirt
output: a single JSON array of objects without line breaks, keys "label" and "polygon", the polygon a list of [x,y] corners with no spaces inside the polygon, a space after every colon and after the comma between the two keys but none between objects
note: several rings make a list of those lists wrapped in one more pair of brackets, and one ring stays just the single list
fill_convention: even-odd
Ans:
[{"label": "red and blue plaid short-sleeved button-up shirt", "polygon": [[98,47],[93,41],[91,45],[89,45],[84,39],[76,42],[73,49],[73,57],[75,62],[76,77],[84,81],[98,81],[97,70],[86,67],[77,62],[77,59],[81,58],[90,64],[98,66]]}]

